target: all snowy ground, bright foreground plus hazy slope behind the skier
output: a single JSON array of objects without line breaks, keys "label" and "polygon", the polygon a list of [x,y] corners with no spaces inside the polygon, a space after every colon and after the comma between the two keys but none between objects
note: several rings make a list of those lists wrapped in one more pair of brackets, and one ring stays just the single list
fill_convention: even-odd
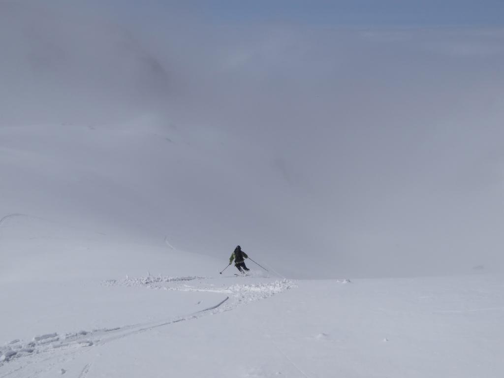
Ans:
[{"label": "all snowy ground, bright foreground plus hazy slope behind the skier", "polygon": [[286,279],[277,172],[143,124],[0,129],[0,378],[504,376],[502,277]]}]

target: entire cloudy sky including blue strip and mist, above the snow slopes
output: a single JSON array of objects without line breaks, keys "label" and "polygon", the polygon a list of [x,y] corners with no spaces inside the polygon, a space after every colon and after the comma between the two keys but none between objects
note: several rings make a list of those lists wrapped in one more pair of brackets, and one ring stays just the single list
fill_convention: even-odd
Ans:
[{"label": "entire cloudy sky including blue strip and mist, above the snow slopes", "polygon": [[[229,136],[287,185],[245,190],[237,211],[278,204],[250,214],[275,220],[268,236],[249,231],[296,273],[498,267],[503,16],[500,1],[2,2],[0,123],[156,114]],[[243,170],[267,186],[257,161]]]}]

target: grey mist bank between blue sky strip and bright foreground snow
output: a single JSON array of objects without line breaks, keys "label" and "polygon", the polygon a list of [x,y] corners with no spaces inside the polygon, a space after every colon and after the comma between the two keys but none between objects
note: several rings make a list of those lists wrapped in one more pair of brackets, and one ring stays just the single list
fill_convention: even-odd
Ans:
[{"label": "grey mist bank between blue sky strip and bright foreground snow", "polygon": [[0,4],[1,216],[295,277],[502,267],[502,30],[176,11]]}]

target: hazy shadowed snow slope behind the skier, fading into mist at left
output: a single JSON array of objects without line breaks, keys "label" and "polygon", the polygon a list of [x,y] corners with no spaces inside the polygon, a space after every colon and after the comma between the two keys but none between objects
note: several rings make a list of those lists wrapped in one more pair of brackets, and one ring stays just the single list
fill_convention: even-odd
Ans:
[{"label": "hazy shadowed snow slope behind the skier, fading into mist at left", "polygon": [[[308,210],[274,156],[219,130],[166,122],[0,125],[0,218],[23,214],[160,247],[167,237],[177,250],[219,258],[241,243],[285,265],[302,248],[299,214]],[[283,275],[303,274],[299,256]]]}]

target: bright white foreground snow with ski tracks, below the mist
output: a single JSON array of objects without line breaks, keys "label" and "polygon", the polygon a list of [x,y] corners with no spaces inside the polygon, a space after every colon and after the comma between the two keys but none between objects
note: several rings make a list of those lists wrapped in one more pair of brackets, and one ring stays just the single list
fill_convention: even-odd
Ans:
[{"label": "bright white foreground snow with ski tracks, below the mist", "polygon": [[41,219],[0,228],[17,251],[2,255],[2,378],[504,376],[499,277],[289,280],[250,261],[237,277]]}]

